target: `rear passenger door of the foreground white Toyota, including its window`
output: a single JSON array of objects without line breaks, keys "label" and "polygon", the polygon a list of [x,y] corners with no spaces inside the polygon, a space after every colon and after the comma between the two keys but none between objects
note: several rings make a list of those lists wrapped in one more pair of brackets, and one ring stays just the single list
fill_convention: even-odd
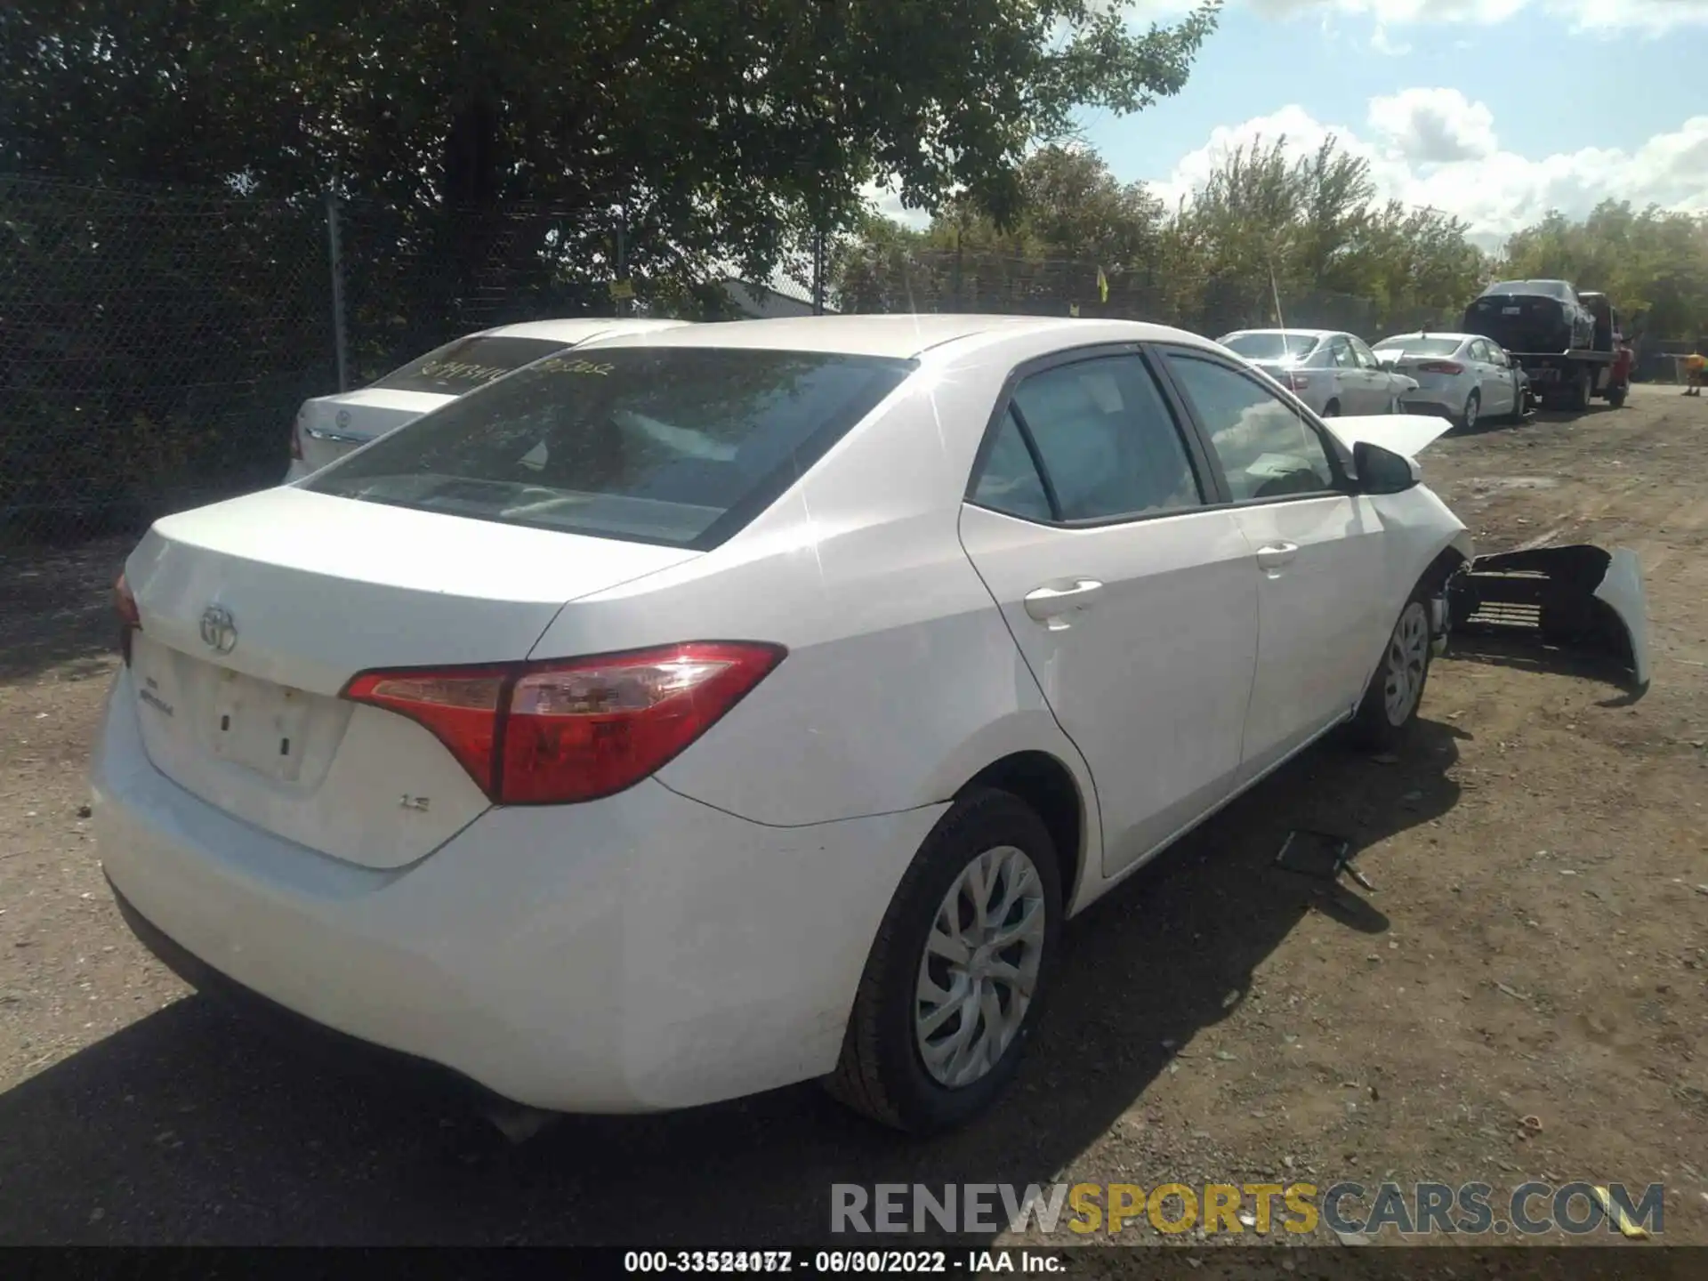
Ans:
[{"label": "rear passenger door of the foreground white Toyota, including its window", "polygon": [[1143,355],[1081,352],[1023,371],[962,511],[962,543],[1091,770],[1105,874],[1238,775],[1259,574],[1237,514],[1206,507],[1208,471]]}]

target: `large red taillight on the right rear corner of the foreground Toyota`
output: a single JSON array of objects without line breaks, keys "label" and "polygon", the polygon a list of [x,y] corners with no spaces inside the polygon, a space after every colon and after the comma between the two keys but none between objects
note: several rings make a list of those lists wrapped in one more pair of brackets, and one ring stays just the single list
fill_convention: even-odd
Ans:
[{"label": "large red taillight on the right rear corner of the foreground Toyota", "polygon": [[782,656],[781,646],[695,640],[562,663],[367,671],[343,697],[418,721],[499,804],[567,804],[659,770]]}]

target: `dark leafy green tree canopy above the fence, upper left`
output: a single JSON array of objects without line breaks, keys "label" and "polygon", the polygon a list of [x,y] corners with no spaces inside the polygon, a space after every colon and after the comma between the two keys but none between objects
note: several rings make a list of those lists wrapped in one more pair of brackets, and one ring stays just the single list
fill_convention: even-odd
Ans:
[{"label": "dark leafy green tree canopy above the fence, upper left", "polygon": [[914,207],[1013,210],[1027,149],[1177,92],[1218,5],[1138,31],[1103,0],[20,0],[0,154],[400,210],[550,202],[685,268],[767,270],[803,227],[852,225],[878,174]]}]

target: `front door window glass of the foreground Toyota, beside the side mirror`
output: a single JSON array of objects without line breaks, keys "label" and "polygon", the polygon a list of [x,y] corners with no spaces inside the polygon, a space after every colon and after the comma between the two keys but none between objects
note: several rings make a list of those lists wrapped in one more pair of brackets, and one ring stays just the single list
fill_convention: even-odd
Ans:
[{"label": "front door window glass of the foreground Toyota, beside the side mirror", "polygon": [[1168,367],[1197,410],[1235,502],[1334,488],[1317,430],[1255,379],[1177,352]]}]

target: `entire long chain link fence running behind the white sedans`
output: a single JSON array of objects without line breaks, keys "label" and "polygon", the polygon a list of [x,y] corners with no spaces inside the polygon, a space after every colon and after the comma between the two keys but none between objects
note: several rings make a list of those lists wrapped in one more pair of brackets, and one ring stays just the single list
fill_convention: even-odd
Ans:
[{"label": "entire long chain link fence running behind the white sedans", "polygon": [[[277,483],[306,398],[494,325],[960,311],[1216,336],[1274,325],[1274,304],[1250,273],[818,239],[743,282],[625,243],[617,198],[459,214],[0,174],[0,541],[132,531]],[[1291,326],[1366,340],[1459,325],[1348,294],[1281,304]]]}]

